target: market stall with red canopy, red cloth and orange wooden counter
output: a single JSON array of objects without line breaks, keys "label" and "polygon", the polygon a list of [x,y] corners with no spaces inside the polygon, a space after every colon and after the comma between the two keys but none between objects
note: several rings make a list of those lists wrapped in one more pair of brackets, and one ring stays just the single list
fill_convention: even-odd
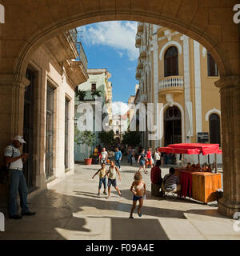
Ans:
[{"label": "market stall with red canopy, red cloth and orange wooden counter", "polygon": [[222,154],[218,144],[180,143],[159,147],[158,151],[166,154],[215,154],[214,166],[188,163],[185,167],[176,168],[176,174],[180,177],[182,197],[188,196],[203,203],[217,199],[216,191],[222,188],[216,162],[216,154]]}]

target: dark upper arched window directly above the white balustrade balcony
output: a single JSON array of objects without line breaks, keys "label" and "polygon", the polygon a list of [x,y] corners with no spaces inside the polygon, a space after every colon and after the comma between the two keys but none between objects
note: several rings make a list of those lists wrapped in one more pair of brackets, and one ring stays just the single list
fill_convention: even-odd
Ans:
[{"label": "dark upper arched window directly above the white balustrade balcony", "polygon": [[178,49],[170,46],[164,55],[164,76],[178,75]]}]

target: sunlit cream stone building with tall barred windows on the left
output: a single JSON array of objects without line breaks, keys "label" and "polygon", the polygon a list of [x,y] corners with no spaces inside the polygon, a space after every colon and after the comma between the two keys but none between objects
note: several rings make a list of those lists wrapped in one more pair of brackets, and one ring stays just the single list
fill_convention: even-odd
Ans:
[{"label": "sunlit cream stone building with tall barred windows on the left", "polygon": [[88,78],[86,56],[78,56],[77,44],[76,30],[66,31],[30,56],[26,90],[15,106],[22,112],[16,126],[23,123],[23,151],[30,155],[24,166],[30,190],[74,173],[74,88]]}]

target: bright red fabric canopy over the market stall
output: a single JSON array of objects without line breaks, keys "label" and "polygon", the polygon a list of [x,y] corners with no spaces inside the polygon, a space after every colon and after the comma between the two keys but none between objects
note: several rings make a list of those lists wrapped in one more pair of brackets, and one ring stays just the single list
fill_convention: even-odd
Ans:
[{"label": "bright red fabric canopy over the market stall", "polygon": [[218,144],[204,143],[171,144],[166,147],[159,147],[158,151],[174,154],[222,154],[222,150],[219,150]]}]

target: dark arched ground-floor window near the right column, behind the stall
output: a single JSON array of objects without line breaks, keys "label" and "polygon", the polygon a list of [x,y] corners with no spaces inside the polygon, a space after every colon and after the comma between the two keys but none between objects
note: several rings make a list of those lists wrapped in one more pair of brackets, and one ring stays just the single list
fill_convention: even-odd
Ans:
[{"label": "dark arched ground-floor window near the right column, behind the stall", "polygon": [[221,146],[220,118],[218,114],[210,114],[209,133],[210,143]]}]

